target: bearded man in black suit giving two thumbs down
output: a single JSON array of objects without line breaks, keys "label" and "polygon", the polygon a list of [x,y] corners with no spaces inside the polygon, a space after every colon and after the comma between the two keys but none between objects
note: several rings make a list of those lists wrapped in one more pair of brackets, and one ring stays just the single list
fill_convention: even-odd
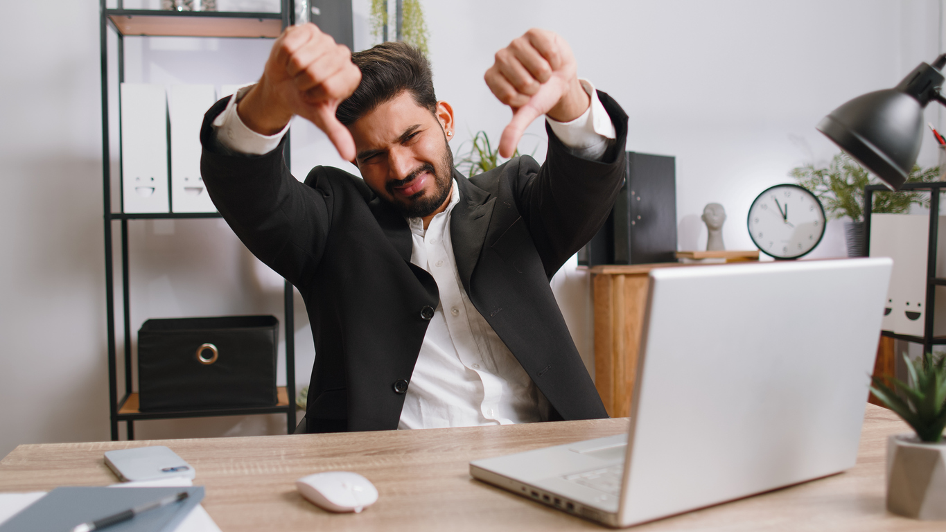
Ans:
[{"label": "bearded man in black suit giving two thumbs down", "polygon": [[[575,73],[548,31],[497,53],[485,80],[515,112],[500,154],[542,114],[549,153],[471,180],[447,145],[453,110],[403,43],[352,55],[290,27],[259,82],[207,112],[211,197],[306,301],[316,358],[297,432],[606,417],[549,280],[604,223],[627,117]],[[295,180],[281,149],[295,114],[363,180],[323,166]]]}]

